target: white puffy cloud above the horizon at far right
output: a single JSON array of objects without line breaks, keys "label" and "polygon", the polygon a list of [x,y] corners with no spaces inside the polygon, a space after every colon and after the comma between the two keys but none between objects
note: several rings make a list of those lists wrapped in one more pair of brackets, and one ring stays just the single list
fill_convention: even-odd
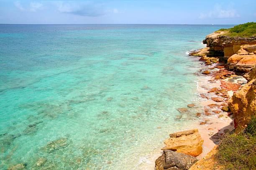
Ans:
[{"label": "white puffy cloud above the horizon at far right", "polygon": [[204,14],[201,13],[199,18],[236,18],[240,17],[240,15],[236,12],[233,7],[228,7],[228,9],[223,10],[220,4],[216,3],[213,10],[209,13]]}]

